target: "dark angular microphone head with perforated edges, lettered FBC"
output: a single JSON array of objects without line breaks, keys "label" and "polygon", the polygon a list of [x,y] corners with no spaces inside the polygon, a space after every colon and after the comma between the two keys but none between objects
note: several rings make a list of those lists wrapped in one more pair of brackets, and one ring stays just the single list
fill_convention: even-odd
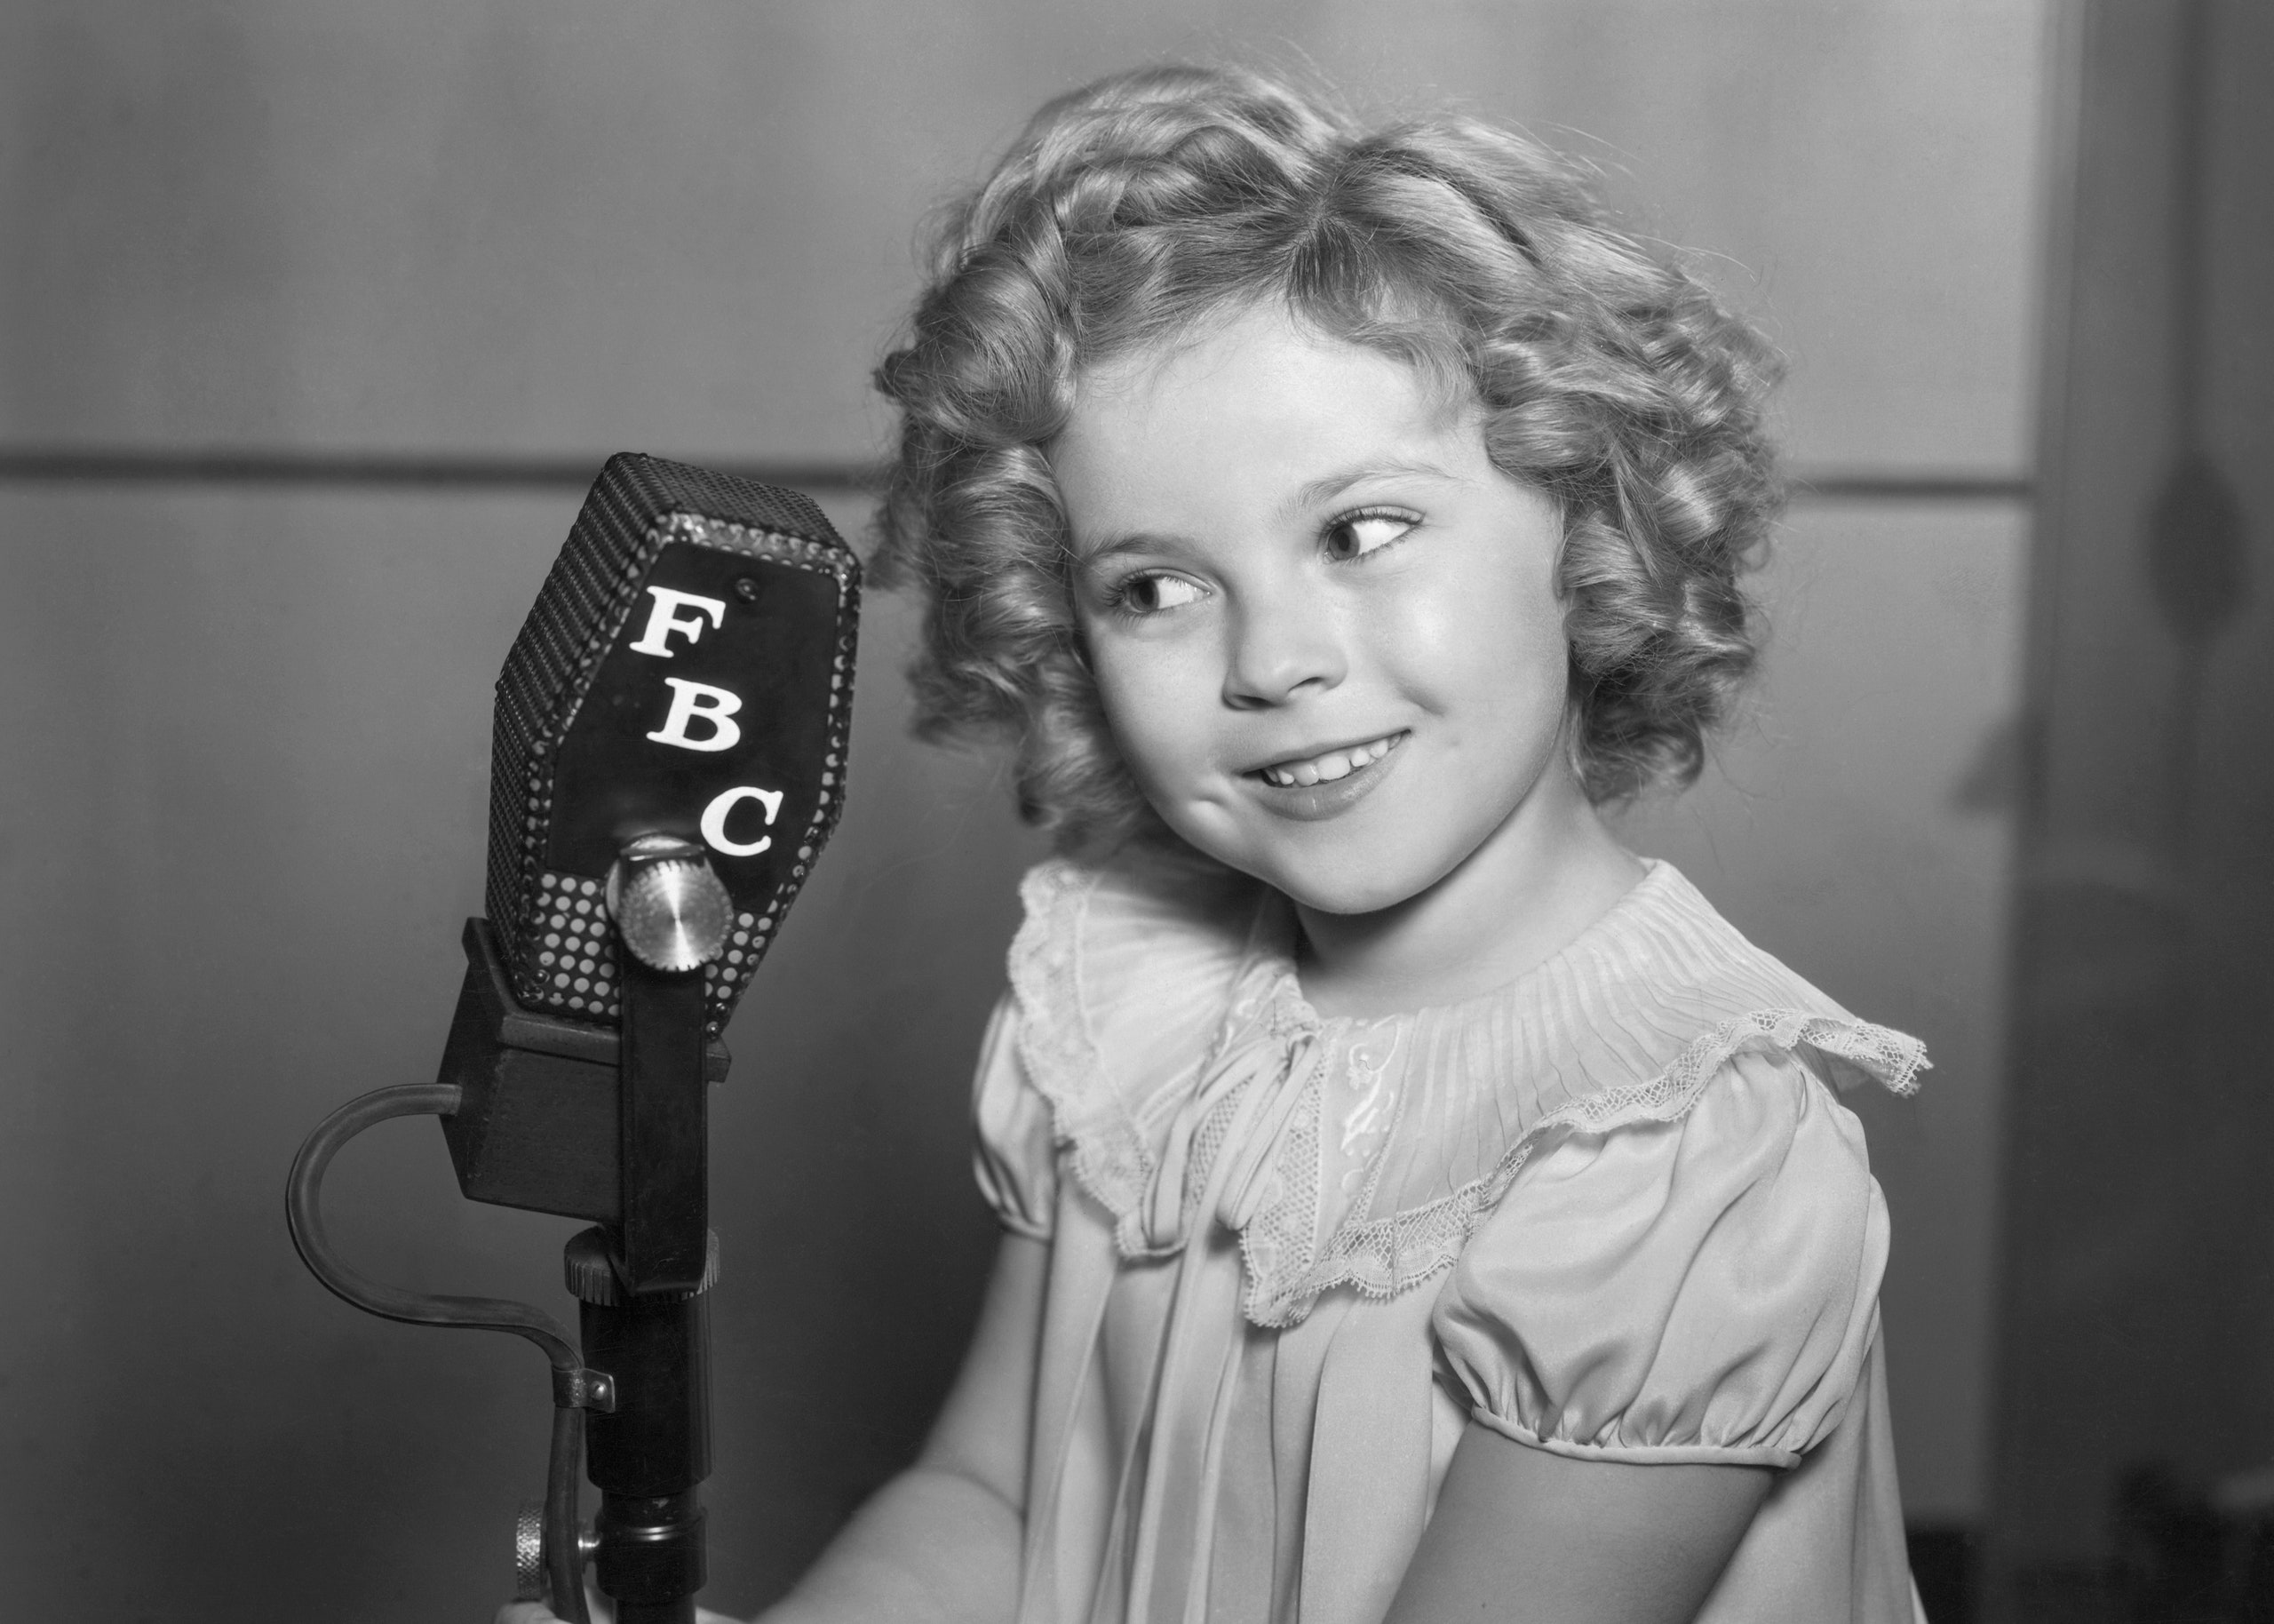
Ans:
[{"label": "dark angular microphone head with perforated edges, lettered FBC", "polygon": [[[732,614],[659,664],[628,644],[666,575],[723,582]],[[709,853],[732,898],[725,948],[703,971],[707,1030],[723,1030],[844,805],[857,616],[860,562],[803,494],[609,457],[498,673],[487,908],[523,1008],[616,1024],[616,851],[648,832],[698,839],[705,803],[755,773],[773,801],[764,851],[741,839]],[[739,746],[644,744],[655,716],[634,712],[666,694],[662,673],[746,689]]]}]

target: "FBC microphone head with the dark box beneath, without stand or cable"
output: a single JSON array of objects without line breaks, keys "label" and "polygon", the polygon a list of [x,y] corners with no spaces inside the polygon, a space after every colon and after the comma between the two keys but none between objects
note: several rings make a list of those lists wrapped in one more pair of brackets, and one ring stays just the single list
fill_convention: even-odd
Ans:
[{"label": "FBC microphone head with the dark box beneath, without stand or cable", "polygon": [[[623,1183],[653,1133],[689,1124],[650,1119],[648,1094],[619,1112],[609,880],[641,839],[680,844],[682,885],[707,869],[698,1024],[716,1080],[719,1033],[844,807],[857,616],[860,562],[812,500],[625,455],[498,676],[489,933],[468,923],[443,1058],[466,1089],[450,1155],[475,1201],[621,1224],[639,1292],[694,1287],[705,1235],[684,1212],[664,1224],[655,1178]],[[673,964],[657,971],[687,973]],[[694,1203],[700,1158],[657,1153]]]}]

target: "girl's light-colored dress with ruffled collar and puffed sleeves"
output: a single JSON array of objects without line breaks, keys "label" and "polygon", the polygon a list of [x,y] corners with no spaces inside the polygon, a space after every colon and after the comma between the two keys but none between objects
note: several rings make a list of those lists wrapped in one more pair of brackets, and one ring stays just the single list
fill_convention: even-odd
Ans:
[{"label": "girl's light-colored dress with ruffled collar and puffed sleeves", "polygon": [[1887,1212],[1828,1083],[1910,1092],[1917,1039],[1662,862],[1508,987],[1371,1021],[1212,864],[1023,898],[976,1089],[980,1185],[1051,1242],[1021,1624],[1373,1624],[1471,1422],[1781,1467],[1712,1624],[1912,1619]]}]

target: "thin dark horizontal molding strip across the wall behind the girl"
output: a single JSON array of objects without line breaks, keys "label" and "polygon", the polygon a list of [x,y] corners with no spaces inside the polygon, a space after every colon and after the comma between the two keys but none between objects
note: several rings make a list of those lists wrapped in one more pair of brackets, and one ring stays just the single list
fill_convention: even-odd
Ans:
[{"label": "thin dark horizontal molding strip across the wall behind the girl", "polygon": [[[705,469],[764,484],[873,491],[882,469],[864,462],[748,462],[694,457]],[[543,491],[584,489],[603,455],[418,453],[418,450],[127,450],[96,446],[0,446],[0,482],[16,484],[273,484],[316,489]],[[1928,469],[1792,471],[1796,503],[2026,503],[2019,473]]]}]

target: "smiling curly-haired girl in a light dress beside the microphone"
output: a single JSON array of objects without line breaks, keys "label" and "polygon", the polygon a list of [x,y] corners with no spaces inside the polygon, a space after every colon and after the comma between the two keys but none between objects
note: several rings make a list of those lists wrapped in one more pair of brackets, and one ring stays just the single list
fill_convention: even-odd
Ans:
[{"label": "smiling curly-haired girl in a light dress beside the microphone", "polygon": [[1596,817],[1753,664],[1771,371],[1537,146],[1244,73],[962,207],[882,564],[1069,855],[976,1344],[771,1619],[1912,1619],[1833,1085],[1924,1055]]}]

